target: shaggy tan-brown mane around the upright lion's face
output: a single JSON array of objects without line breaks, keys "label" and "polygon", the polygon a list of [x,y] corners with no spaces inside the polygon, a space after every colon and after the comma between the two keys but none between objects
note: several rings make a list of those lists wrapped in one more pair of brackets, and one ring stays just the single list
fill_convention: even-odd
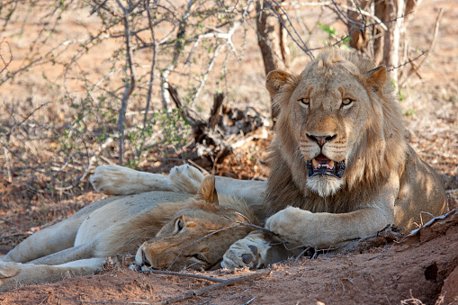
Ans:
[{"label": "shaggy tan-brown mane around the upright lion's face", "polygon": [[[322,67],[329,74],[345,70],[355,76],[364,85],[372,104],[369,120],[364,126],[354,129],[361,134],[354,154],[347,160],[346,184],[337,193],[324,198],[303,187],[308,179],[306,160],[297,153],[298,143],[292,137],[292,130],[301,128],[301,121],[292,121],[289,115],[293,106],[290,97],[295,87],[301,79]],[[380,191],[393,171],[402,171],[408,145],[404,139],[400,105],[387,79],[382,79],[381,84],[370,83],[366,74],[373,68],[373,63],[364,58],[328,49],[312,61],[300,76],[290,76],[272,96],[274,108],[280,114],[268,158],[271,174],[266,191],[266,217],[289,205],[312,212],[355,211],[361,202]],[[377,87],[379,90],[376,90]],[[292,168],[301,170],[292,171]]]}]

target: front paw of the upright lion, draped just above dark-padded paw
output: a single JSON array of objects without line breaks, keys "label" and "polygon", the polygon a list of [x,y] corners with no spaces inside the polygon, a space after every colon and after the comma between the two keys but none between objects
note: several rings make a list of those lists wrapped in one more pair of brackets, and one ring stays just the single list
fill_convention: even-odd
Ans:
[{"label": "front paw of the upright lion, draped just above dark-padded paw", "polygon": [[265,229],[280,235],[292,243],[303,243],[310,225],[310,219],[313,213],[310,211],[301,210],[299,208],[288,207],[277,212],[265,221]]}]

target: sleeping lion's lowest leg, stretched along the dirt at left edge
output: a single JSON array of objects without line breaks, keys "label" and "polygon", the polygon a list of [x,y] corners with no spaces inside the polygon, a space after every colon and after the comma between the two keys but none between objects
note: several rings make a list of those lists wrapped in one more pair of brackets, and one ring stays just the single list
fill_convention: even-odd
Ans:
[{"label": "sleeping lion's lowest leg, stretched along the dirt at left edge", "polygon": [[94,274],[106,258],[82,259],[63,265],[32,265],[0,262],[0,292],[20,285],[57,282],[76,275]]}]

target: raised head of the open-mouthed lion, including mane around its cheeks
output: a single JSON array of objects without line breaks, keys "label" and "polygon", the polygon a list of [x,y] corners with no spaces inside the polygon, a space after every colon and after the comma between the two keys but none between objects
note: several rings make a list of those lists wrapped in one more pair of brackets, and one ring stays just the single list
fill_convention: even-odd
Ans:
[{"label": "raised head of the open-mouthed lion, including mane around its cheeks", "polygon": [[328,49],[300,76],[269,73],[266,87],[279,112],[274,149],[302,193],[368,186],[400,166],[404,125],[385,67]]}]

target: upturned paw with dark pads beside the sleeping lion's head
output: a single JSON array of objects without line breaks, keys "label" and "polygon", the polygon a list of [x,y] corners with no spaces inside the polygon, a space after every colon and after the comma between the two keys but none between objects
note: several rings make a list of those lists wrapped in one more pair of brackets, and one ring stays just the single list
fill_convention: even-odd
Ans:
[{"label": "upturned paw with dark pads beside the sleeping lion's head", "polygon": [[270,247],[270,244],[262,238],[262,234],[249,234],[229,247],[223,256],[221,267],[230,270],[240,267],[260,268],[266,265],[267,251]]}]

